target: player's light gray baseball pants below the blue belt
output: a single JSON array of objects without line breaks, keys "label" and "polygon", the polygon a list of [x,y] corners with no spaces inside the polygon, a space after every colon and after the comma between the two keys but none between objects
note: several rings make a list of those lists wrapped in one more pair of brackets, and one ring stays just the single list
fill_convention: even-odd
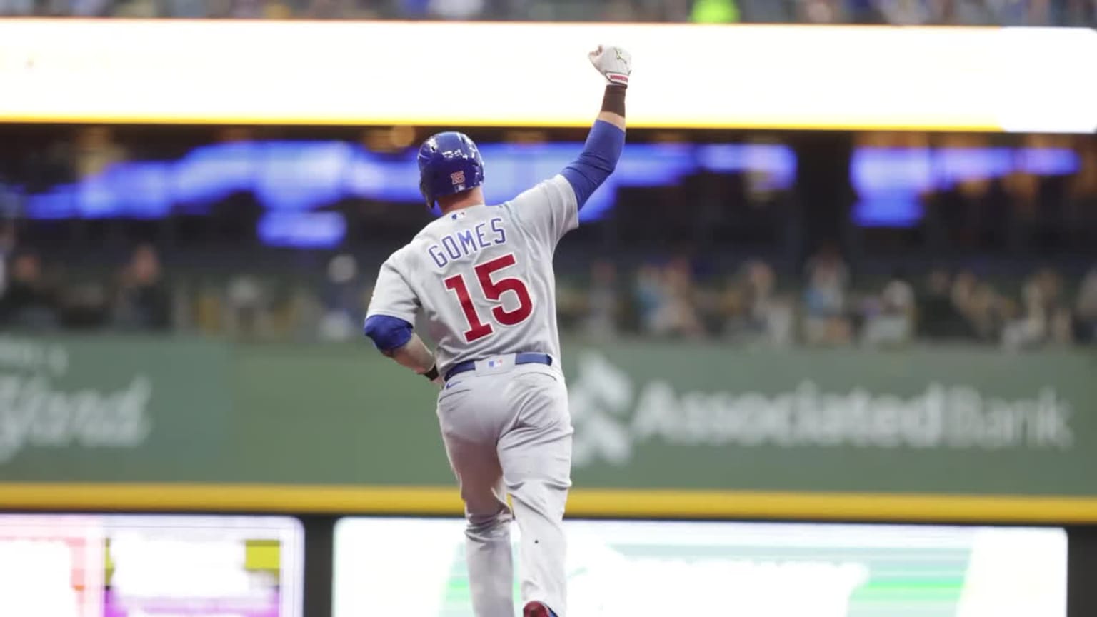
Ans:
[{"label": "player's light gray baseball pants below the blue belt", "polygon": [[[476,617],[513,617],[510,521],[520,534],[522,604],[567,608],[564,505],[572,485],[572,428],[559,370],[477,362],[438,397],[450,465],[465,502],[465,554]],[[500,364],[501,366],[498,366]],[[507,495],[513,511],[507,505]]]}]

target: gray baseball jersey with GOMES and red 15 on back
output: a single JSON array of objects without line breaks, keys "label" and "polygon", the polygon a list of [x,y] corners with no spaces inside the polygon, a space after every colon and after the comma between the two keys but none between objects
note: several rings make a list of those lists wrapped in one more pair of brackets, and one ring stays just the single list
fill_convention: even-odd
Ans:
[{"label": "gray baseball jersey with GOMES and red 15 on back", "polygon": [[422,312],[441,374],[455,363],[535,351],[559,366],[553,253],[579,224],[555,176],[499,205],[432,221],[384,262],[367,316],[415,324]]}]

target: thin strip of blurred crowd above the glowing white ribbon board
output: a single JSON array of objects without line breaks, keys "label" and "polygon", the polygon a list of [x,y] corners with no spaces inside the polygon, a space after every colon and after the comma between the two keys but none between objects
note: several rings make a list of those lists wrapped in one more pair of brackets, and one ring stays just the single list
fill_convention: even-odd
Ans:
[{"label": "thin strip of blurred crowd above the glowing white ribbon board", "polygon": [[1094,25],[1097,0],[0,0],[0,15]]}]

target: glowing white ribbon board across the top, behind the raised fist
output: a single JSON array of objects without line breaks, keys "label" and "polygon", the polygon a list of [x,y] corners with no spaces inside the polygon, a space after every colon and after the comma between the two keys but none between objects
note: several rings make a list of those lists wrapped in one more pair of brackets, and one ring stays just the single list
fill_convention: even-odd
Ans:
[{"label": "glowing white ribbon board across the top, behind the raised fist", "polygon": [[0,22],[0,122],[585,126],[599,42],[634,127],[1097,130],[1087,29],[173,20]]}]

